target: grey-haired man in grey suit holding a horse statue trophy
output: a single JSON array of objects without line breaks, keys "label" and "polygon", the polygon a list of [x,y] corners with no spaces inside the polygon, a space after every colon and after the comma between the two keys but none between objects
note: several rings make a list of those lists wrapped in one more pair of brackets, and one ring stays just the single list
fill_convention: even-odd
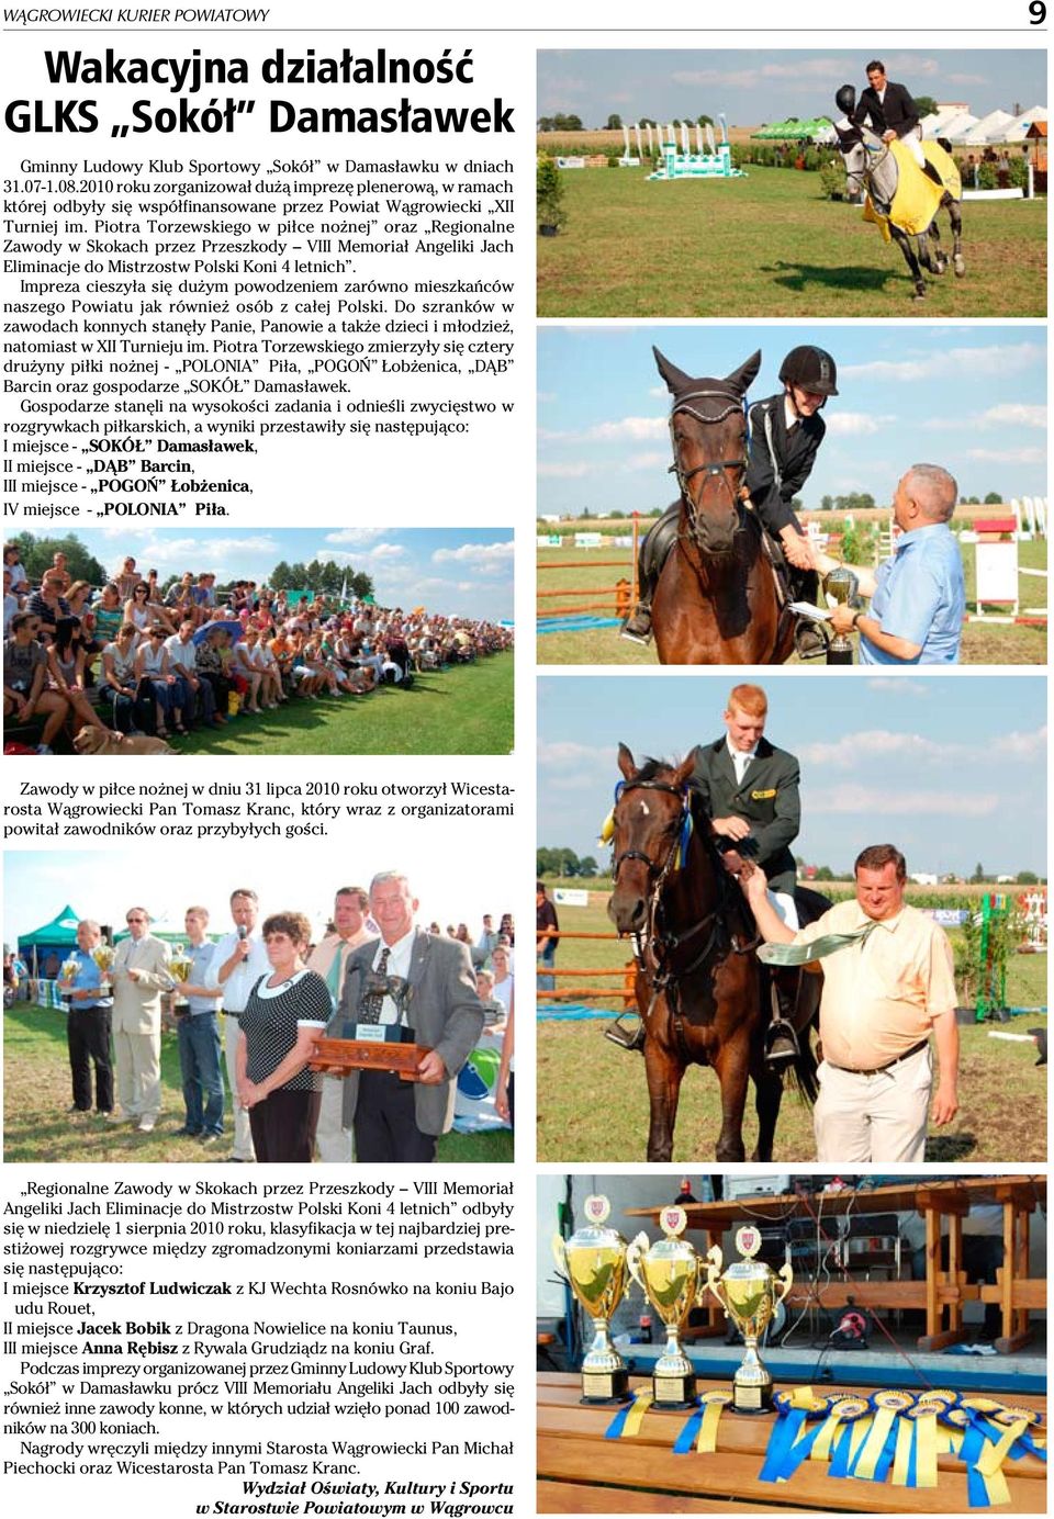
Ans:
[{"label": "grey-haired man in grey suit holding a horse statue trophy", "polygon": [[346,1129],[361,1162],[431,1162],[454,1118],[454,1078],[483,1028],[468,945],[415,927],[416,898],[404,875],[384,870],[369,887],[380,940],[348,958],[333,1037],[378,1037],[424,1045],[418,1080],[390,1071],[345,1078]]}]

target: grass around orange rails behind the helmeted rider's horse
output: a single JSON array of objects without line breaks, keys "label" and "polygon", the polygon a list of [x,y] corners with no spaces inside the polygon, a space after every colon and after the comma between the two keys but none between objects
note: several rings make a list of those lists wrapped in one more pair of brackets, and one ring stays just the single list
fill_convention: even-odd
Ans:
[{"label": "grass around orange rails behind the helmeted rider's horse", "polygon": [[[586,565],[585,570],[559,570],[560,561],[582,561],[591,550],[574,548],[539,548],[538,550],[538,589],[563,591],[568,586],[582,588],[592,592],[594,588],[614,586],[620,579],[630,579],[629,548],[598,548],[598,559],[624,559],[626,570],[601,570]],[[1018,545],[1019,562],[1028,570],[1046,568],[1046,542],[1034,539]],[[966,547],[963,553],[963,570],[966,574],[966,606],[975,611],[975,573],[974,553]],[[1021,609],[1022,615],[1030,608],[1046,606],[1046,580],[1036,576],[1021,576]],[[600,597],[588,594],[585,597],[547,598],[539,603],[547,615],[554,615],[560,606],[573,606],[577,602],[594,602]],[[609,597],[614,615],[614,592]],[[591,615],[603,617],[603,612]],[[855,641],[855,639],[854,639]],[[963,644],[960,650],[961,664],[1043,664],[1046,659],[1046,630],[1043,627],[1015,627],[1002,623],[967,623],[963,627]],[[611,665],[655,665],[658,655],[655,643],[647,649],[632,644],[618,636],[618,627],[594,627],[585,632],[554,632],[538,636],[539,664],[611,664]],[[794,664],[791,655],[788,664]],[[814,668],[822,668],[819,662],[811,662]]]}]

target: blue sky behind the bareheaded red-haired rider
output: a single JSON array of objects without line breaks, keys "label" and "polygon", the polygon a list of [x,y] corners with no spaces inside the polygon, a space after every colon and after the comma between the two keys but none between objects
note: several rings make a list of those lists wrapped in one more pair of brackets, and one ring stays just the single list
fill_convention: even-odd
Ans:
[{"label": "blue sky behind the bareheaded red-haired rider", "polygon": [[[797,755],[811,864],[849,869],[896,843],[908,870],[1046,870],[1046,694],[1036,676],[772,674],[765,737]],[[580,676],[538,682],[539,845],[592,854],[618,781],[620,740],[682,756],[724,732],[735,677]]]}]

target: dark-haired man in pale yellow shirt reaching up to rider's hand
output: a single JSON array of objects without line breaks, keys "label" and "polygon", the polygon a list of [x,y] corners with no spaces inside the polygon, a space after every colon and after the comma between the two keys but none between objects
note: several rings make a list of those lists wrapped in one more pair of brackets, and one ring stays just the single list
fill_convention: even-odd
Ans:
[{"label": "dark-haired man in pale yellow shirt reaching up to rider's hand", "polygon": [[937,1127],[958,1112],[955,974],[948,934],[904,901],[907,864],[893,845],[872,845],[854,867],[855,898],[806,928],[790,930],[768,901],[764,870],[740,876],[770,965],[823,972],[820,1095],[813,1110],[822,1164],[922,1162],[933,1088],[929,1034],[940,1080]]}]

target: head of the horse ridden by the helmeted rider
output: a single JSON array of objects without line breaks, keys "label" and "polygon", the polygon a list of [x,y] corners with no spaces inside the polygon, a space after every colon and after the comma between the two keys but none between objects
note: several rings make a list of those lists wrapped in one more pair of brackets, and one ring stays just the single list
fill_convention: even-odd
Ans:
[{"label": "head of the horse ridden by the helmeted rider", "polygon": [[658,348],[659,374],[673,395],[671,472],[677,477],[691,539],[703,554],[727,554],[740,529],[740,486],[747,471],[746,393],[761,368],[752,354],[724,380],[693,378]]}]

